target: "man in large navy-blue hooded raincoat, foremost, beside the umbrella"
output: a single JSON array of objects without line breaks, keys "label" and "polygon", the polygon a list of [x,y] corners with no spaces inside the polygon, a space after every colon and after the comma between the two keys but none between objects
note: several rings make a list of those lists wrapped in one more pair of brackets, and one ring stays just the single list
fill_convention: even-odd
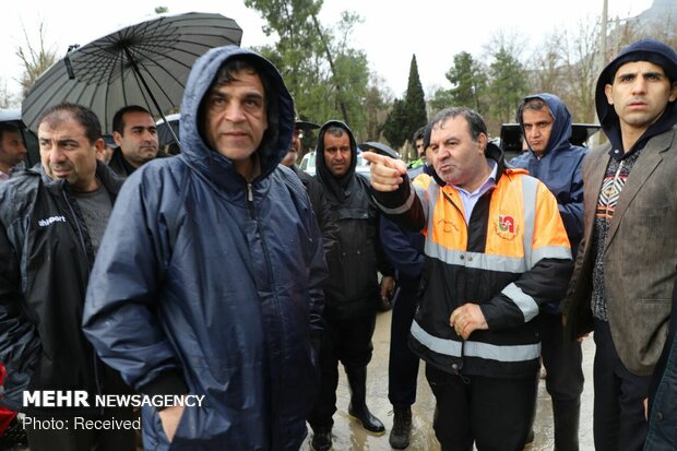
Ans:
[{"label": "man in large navy-blue hooded raincoat, foremost, beside the umbrella", "polygon": [[326,269],[304,186],[278,166],[292,97],[261,56],[215,48],[193,66],[180,127],[181,154],[120,192],[85,333],[140,393],[191,401],[143,406],[146,449],[298,450]]}]

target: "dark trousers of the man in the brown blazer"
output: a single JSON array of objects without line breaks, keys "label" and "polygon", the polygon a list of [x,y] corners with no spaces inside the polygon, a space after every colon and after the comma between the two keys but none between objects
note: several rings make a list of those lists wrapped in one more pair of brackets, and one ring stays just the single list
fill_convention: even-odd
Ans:
[{"label": "dark trousers of the man in the brown blazer", "polygon": [[594,328],[595,450],[639,451],[649,430],[643,402],[649,395],[651,377],[628,371],[618,357],[606,321],[595,320]]}]

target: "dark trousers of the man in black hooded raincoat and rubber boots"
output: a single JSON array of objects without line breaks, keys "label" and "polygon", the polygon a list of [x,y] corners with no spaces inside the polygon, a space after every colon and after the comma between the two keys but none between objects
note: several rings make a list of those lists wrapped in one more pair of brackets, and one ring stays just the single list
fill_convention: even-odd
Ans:
[{"label": "dark trousers of the man in black hooded raincoat and rubber boots", "polygon": [[376,312],[349,319],[325,318],[325,329],[320,347],[320,393],[308,423],[313,429],[331,428],[336,412],[339,361],[346,371],[366,367],[371,360],[371,336],[376,327]]}]

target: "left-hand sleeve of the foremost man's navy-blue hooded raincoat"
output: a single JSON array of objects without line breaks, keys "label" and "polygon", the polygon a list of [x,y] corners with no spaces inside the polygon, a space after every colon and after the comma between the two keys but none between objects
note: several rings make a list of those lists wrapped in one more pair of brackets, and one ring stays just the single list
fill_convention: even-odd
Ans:
[{"label": "left-hand sleeve of the foremost man's navy-blue hooded raincoat", "polygon": [[126,181],[112,209],[90,276],[83,328],[128,384],[149,394],[182,394],[182,371],[155,308],[170,256],[167,218],[156,217],[162,188],[146,192],[154,183],[139,176]]}]

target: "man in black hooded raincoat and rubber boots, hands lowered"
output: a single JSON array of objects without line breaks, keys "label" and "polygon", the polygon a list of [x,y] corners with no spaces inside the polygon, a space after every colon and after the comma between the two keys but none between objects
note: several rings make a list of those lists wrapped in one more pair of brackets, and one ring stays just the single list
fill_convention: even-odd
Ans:
[{"label": "man in black hooded raincoat and rubber boots, hands lowered", "polygon": [[[357,144],[351,129],[336,120],[324,123],[318,137],[316,177],[334,213],[339,235],[335,251],[326,257],[330,275],[324,286],[326,328],[320,351],[321,385],[308,419],[316,451],[332,446],[339,361],[351,387],[348,413],[365,429],[385,431],[367,408],[366,382],[378,300],[394,288],[393,269],[381,249],[379,211],[369,194],[369,181],[355,174],[356,164]],[[380,287],[379,271],[383,274]]]}]

